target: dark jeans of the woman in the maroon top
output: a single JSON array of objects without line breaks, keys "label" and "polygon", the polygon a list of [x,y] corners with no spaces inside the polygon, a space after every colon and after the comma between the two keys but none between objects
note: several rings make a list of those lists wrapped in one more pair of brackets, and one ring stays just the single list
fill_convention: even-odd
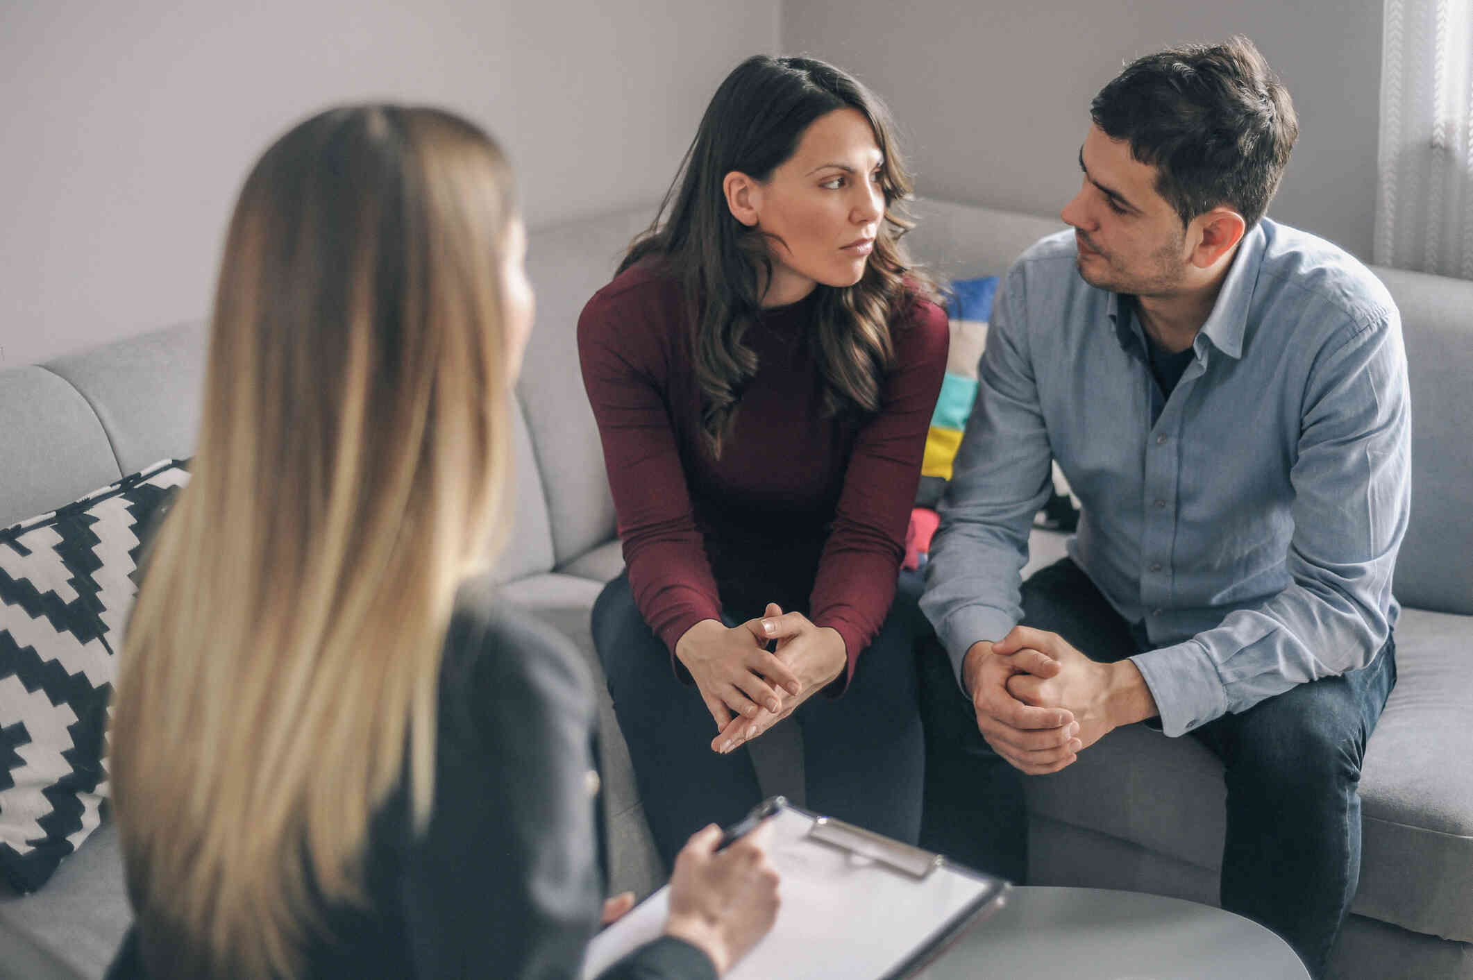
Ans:
[{"label": "dark jeans of the woman in the maroon top", "polygon": [[[913,601],[897,597],[843,697],[819,691],[792,713],[803,729],[809,809],[909,843],[921,830],[925,757],[913,654],[921,623]],[[645,818],[670,867],[697,830],[732,824],[762,799],[757,772],[745,747],[711,752],[716,722],[695,685],[676,678],[670,651],[639,615],[626,575],[594,603],[594,645]]]}]

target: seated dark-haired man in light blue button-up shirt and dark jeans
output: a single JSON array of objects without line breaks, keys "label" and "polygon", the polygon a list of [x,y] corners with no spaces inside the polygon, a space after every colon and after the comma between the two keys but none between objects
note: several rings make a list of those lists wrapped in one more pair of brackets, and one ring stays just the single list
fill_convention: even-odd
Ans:
[{"label": "seated dark-haired man in light blue button-up shirt and dark jeans", "polygon": [[[932,697],[957,749],[927,825],[959,830],[922,843],[1024,877],[1019,774],[1155,719],[1226,765],[1223,906],[1318,976],[1395,682],[1399,315],[1354,258],[1262,218],[1298,122],[1251,41],[1146,56],[1090,115],[1074,231],[1008,273],[932,542],[922,609],[963,697]],[[1078,533],[1019,588],[1050,460]]]}]

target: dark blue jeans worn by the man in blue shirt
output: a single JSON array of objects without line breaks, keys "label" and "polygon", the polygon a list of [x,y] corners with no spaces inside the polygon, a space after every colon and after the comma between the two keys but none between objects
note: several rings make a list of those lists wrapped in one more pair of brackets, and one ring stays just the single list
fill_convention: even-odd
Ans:
[{"label": "dark blue jeans worn by the man in blue shirt", "polygon": [[[1147,648],[1143,631],[1069,559],[1024,584],[1022,609],[1024,623],[1059,634],[1093,660],[1112,663]],[[1223,908],[1283,936],[1317,977],[1360,880],[1361,760],[1395,682],[1388,640],[1365,668],[1301,684],[1190,732],[1224,765]],[[921,844],[1025,881],[1024,777],[978,734],[971,701],[934,638],[921,654]]]}]

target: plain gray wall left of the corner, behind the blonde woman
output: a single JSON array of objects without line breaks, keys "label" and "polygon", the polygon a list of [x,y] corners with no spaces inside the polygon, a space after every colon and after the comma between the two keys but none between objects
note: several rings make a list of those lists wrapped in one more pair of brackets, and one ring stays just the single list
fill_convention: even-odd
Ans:
[{"label": "plain gray wall left of the corner, behind the blonde woman", "polygon": [[342,100],[492,130],[530,224],[657,197],[779,0],[0,0],[0,368],[209,309],[250,162]]}]

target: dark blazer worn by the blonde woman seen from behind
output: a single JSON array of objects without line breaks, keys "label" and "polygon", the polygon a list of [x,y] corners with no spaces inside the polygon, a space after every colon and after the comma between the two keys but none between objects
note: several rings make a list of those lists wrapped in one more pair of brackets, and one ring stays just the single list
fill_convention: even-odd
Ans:
[{"label": "dark blazer worn by the blonde woman seen from behind", "polygon": [[[566,638],[502,609],[489,581],[467,582],[440,668],[429,827],[411,831],[401,784],[370,828],[370,905],[324,903],[328,934],[314,934],[305,976],[576,977],[604,892],[594,704]],[[150,917],[131,872],[130,893],[138,923],[108,976],[203,976],[197,946]],[[714,976],[703,952],[661,939],[602,980]]]}]

